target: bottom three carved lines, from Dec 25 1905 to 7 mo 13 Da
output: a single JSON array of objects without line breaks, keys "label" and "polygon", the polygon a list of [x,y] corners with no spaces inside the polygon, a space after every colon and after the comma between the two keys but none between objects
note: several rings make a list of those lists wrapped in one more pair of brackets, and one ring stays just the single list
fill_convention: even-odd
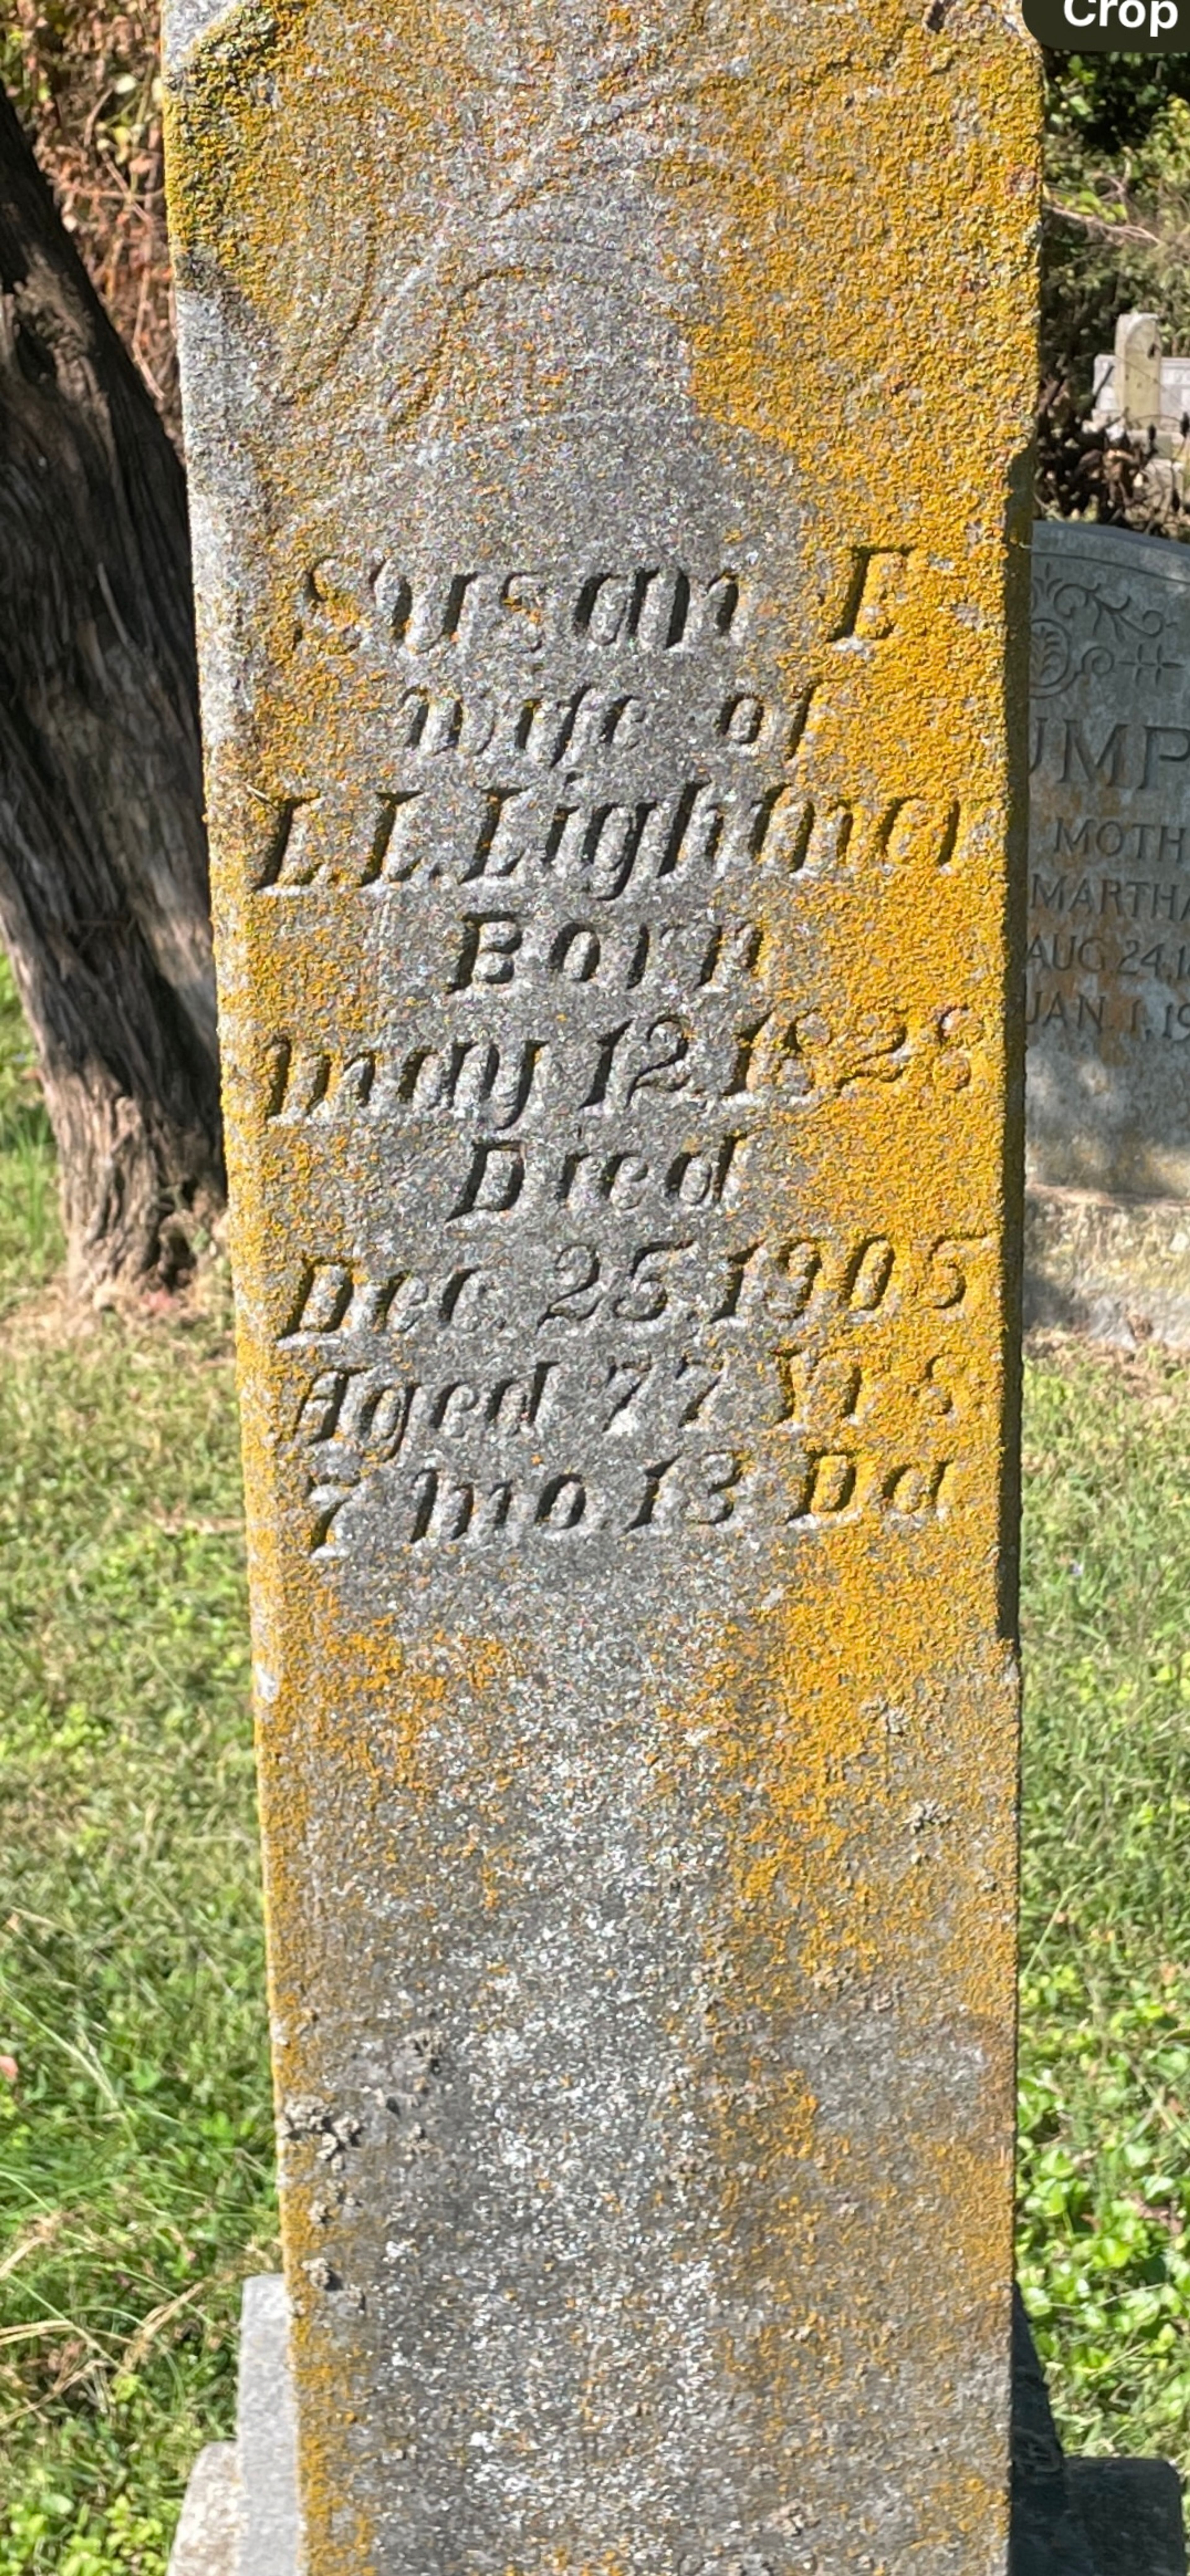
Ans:
[{"label": "bottom three carved lines, from Dec 25 1905 to 7 mo 13 Da", "polygon": [[[580,1239],[543,1247],[513,1306],[479,1265],[307,1262],[278,1350],[299,1363],[309,1546],[340,1548],[340,1515],[376,1479],[407,1546],[737,1530],[773,1471],[788,1525],[948,1510],[971,1409],[950,1327],[987,1252],[750,1242],[706,1278],[693,1236],[621,1255]],[[904,1342],[914,1314],[935,1332]],[[525,1345],[513,1368],[502,1334]]]}]

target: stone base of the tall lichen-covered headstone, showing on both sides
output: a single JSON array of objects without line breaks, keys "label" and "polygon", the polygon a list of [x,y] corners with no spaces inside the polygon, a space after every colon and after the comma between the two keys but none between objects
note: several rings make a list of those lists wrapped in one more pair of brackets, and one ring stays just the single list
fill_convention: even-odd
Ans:
[{"label": "stone base of the tall lichen-covered headstone, showing on both sides", "polygon": [[[170,2576],[299,2576],[288,2300],[245,2282],[234,2442],[198,2452]],[[1169,2460],[1066,2460],[1020,2298],[1012,2308],[1010,2576],[1187,2576]]]}]

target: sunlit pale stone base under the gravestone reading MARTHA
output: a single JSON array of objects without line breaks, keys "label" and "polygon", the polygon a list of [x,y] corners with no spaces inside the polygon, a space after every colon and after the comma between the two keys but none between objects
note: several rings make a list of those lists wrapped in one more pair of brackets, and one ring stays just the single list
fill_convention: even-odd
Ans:
[{"label": "sunlit pale stone base under the gravestone reading MARTHA", "polygon": [[1030,1188],[1025,1324],[1120,1350],[1190,1350],[1190,1206]]}]

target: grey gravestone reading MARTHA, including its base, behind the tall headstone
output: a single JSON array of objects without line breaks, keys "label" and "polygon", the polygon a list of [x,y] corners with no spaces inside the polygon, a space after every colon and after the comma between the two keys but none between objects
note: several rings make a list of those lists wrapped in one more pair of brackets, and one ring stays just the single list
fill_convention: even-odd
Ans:
[{"label": "grey gravestone reading MARTHA, including its base, behind the tall headstone", "polygon": [[1030,773],[1030,1306],[1182,1342],[1190,549],[1033,531]]}]

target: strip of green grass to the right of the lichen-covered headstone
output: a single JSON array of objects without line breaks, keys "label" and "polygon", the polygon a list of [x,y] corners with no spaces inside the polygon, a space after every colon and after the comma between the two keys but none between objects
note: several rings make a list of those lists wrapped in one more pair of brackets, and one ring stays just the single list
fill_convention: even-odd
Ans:
[{"label": "strip of green grass to the right of the lichen-covered headstone", "polygon": [[1190,2470],[1190,1368],[1025,1412],[1020,2272],[1072,2450]]}]

